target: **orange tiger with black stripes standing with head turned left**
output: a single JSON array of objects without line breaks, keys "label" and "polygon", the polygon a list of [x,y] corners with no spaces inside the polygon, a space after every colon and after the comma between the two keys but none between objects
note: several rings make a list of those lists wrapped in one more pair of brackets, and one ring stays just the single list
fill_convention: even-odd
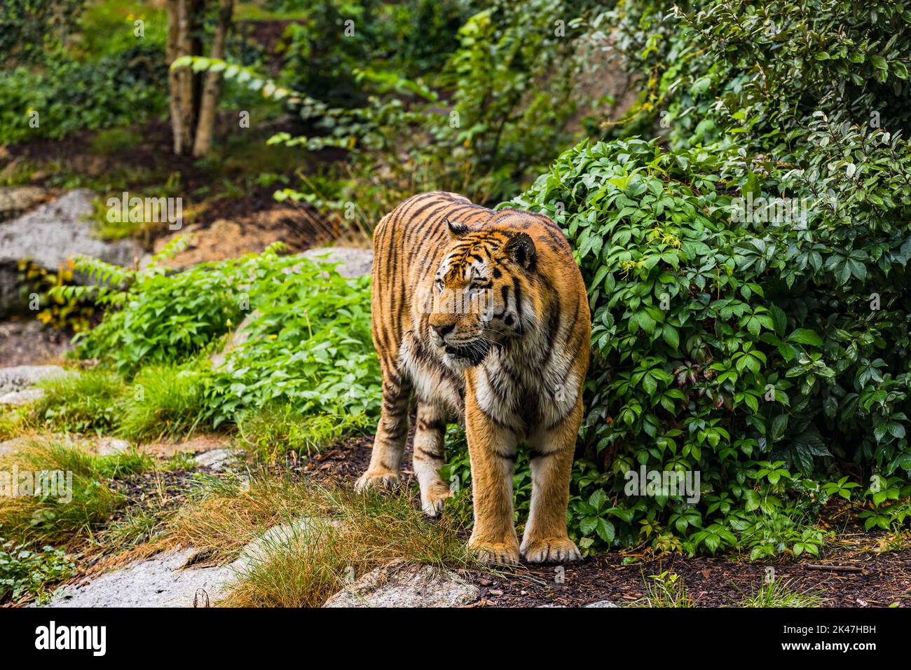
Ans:
[{"label": "orange tiger with black stripes standing with head turned left", "polygon": [[[372,309],[383,397],[355,489],[399,482],[416,405],[413,463],[428,516],[452,495],[440,476],[447,424],[464,422],[478,559],[578,561],[567,506],[591,316],[558,224],[456,193],[408,198],[374,229]],[[523,441],[532,492],[519,543],[512,475]]]}]

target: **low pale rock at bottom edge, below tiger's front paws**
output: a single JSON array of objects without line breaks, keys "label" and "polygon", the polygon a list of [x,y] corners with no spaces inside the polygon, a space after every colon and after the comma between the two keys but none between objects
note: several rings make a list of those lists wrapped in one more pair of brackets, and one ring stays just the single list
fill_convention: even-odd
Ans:
[{"label": "low pale rock at bottom edge, below tiger's front paws", "polygon": [[460,607],[480,590],[455,572],[429,565],[392,562],[346,586],[324,607]]}]

